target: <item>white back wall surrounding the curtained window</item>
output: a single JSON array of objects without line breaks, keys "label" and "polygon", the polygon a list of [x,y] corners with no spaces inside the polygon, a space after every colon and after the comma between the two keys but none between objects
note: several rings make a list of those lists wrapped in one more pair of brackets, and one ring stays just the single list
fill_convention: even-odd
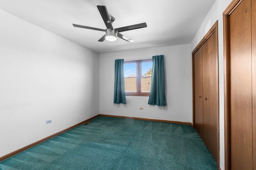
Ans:
[{"label": "white back wall surrounding the curtained window", "polygon": [[[115,59],[150,59],[154,55],[164,55],[167,106],[148,105],[148,96],[126,96],[126,105],[114,104]],[[100,114],[192,123],[191,70],[190,45],[100,54]]]}]

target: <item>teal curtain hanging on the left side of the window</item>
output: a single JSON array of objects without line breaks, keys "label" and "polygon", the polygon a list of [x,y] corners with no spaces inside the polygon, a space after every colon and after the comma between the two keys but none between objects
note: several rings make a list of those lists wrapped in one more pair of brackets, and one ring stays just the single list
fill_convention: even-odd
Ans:
[{"label": "teal curtain hanging on the left side of the window", "polygon": [[124,89],[124,59],[115,61],[114,104],[126,104]]}]

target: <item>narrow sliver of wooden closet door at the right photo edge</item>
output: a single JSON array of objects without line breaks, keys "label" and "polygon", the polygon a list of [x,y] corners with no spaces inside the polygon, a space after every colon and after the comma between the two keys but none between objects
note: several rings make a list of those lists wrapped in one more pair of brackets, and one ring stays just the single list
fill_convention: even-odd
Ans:
[{"label": "narrow sliver of wooden closet door at the right photo edge", "polygon": [[256,0],[252,0],[252,126],[253,164],[256,169]]}]

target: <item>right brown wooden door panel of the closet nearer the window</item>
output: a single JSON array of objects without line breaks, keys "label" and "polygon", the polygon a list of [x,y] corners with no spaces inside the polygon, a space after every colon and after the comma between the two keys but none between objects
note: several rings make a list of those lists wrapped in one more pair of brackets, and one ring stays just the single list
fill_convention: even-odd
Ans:
[{"label": "right brown wooden door panel of the closet nearer the window", "polygon": [[218,162],[218,42],[216,31],[202,46],[204,143]]}]

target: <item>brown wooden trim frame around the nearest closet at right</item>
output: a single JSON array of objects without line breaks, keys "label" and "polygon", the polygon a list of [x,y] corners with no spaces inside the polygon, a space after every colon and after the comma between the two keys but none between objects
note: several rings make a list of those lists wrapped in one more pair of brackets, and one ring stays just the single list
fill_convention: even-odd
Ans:
[{"label": "brown wooden trim frame around the nearest closet at right", "polygon": [[230,165],[230,32],[229,16],[243,0],[233,0],[223,12],[223,49],[224,49],[224,141],[225,141],[225,170]]}]

